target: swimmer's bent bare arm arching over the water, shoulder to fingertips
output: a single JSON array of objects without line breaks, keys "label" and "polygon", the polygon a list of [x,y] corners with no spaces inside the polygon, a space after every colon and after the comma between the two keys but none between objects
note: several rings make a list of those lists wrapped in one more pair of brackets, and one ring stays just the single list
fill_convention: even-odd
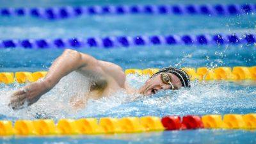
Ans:
[{"label": "swimmer's bent bare arm arching over the water, shoulder to fingertips", "polygon": [[47,76],[42,81],[28,84],[21,90],[13,93],[9,106],[13,109],[23,108],[24,102],[28,105],[35,103],[44,93],[51,90],[62,77],[70,72],[84,68],[100,72],[98,60],[88,54],[67,49],[58,57],[49,68]]}]

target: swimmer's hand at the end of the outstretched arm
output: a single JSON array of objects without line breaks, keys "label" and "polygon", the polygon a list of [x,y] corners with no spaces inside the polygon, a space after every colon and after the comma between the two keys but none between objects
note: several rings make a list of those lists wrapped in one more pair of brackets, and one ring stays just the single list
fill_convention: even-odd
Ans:
[{"label": "swimmer's hand at the end of the outstretched arm", "polygon": [[25,103],[28,104],[28,106],[35,103],[44,93],[48,92],[48,90],[44,81],[28,84],[11,95],[8,106],[12,109],[22,109],[25,107]]}]

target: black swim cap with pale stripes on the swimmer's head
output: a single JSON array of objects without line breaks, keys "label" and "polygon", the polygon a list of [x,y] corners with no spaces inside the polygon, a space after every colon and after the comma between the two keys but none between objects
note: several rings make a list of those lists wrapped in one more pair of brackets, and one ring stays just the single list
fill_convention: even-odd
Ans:
[{"label": "black swim cap with pale stripes on the swimmer's head", "polygon": [[157,74],[160,74],[161,72],[168,72],[168,73],[174,74],[175,76],[177,76],[180,79],[180,82],[183,87],[190,88],[190,79],[189,79],[188,74],[184,70],[182,70],[180,68],[166,67],[166,68],[162,68],[161,70],[159,70],[159,72],[157,72],[153,76],[156,76]]}]

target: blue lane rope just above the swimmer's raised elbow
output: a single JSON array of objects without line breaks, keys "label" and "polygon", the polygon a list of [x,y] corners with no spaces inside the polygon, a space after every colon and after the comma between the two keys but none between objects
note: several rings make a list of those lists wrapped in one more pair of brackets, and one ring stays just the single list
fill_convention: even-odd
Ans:
[{"label": "blue lane rope just above the swimmer's raised elbow", "polygon": [[131,47],[143,45],[225,45],[256,44],[255,34],[216,34],[216,35],[152,35],[152,36],[107,36],[104,38],[56,38],[0,40],[0,48],[23,47],[26,49],[65,48],[65,47]]}]

